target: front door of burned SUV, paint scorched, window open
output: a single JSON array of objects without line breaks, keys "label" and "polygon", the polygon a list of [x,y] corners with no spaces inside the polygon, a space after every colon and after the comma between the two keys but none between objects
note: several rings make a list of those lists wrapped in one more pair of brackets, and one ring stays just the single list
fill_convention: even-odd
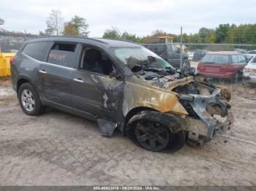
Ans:
[{"label": "front door of burned SUV, paint scorched, window open", "polygon": [[97,47],[85,46],[78,69],[72,73],[72,107],[113,120],[120,115],[124,81],[110,77],[116,67],[110,57]]}]

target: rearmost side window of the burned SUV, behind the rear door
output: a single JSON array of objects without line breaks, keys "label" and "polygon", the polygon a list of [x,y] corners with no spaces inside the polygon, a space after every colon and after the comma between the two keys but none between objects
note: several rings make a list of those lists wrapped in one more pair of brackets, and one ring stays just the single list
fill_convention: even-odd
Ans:
[{"label": "rearmost side window of the burned SUV, behind the rear door", "polygon": [[42,61],[45,53],[50,47],[50,42],[32,42],[26,45],[22,52],[37,61]]}]

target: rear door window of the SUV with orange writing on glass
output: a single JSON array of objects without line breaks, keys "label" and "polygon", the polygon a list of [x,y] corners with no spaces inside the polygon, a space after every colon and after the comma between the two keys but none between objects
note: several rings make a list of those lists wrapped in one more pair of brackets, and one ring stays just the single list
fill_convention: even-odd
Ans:
[{"label": "rear door window of the SUV with orange writing on glass", "polygon": [[74,68],[76,44],[54,44],[48,55],[48,63]]}]

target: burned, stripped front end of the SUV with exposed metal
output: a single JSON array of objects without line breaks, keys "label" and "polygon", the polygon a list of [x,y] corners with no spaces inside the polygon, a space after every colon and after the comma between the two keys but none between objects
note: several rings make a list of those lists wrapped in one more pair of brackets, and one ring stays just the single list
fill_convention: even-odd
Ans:
[{"label": "burned, stripped front end of the SUV with exposed metal", "polygon": [[202,145],[217,133],[229,130],[233,124],[230,93],[203,80],[194,80],[172,89],[188,115],[181,117],[188,141]]}]

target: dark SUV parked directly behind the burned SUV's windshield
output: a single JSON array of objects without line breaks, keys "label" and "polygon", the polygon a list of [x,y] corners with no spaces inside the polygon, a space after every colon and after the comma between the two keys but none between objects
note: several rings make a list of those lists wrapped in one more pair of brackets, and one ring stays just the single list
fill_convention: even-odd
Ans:
[{"label": "dark SUV parked directly behind the burned SUV's windshield", "polygon": [[[144,47],[155,52],[176,69],[180,68],[181,51],[175,44],[144,44]],[[186,52],[182,53],[182,62],[183,66],[190,66],[189,55]]]}]

